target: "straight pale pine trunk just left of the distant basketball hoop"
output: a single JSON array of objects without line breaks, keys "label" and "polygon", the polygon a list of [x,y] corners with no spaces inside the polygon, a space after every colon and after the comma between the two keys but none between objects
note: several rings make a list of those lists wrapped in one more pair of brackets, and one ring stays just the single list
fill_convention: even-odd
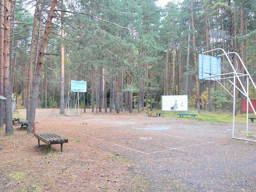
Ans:
[{"label": "straight pale pine trunk just left of the distant basketball hoop", "polygon": [[[61,7],[63,9],[64,7],[64,2],[61,0]],[[64,37],[64,12],[61,12],[61,36]],[[64,40],[61,39],[61,44],[60,44],[60,114],[65,114],[65,50],[64,50]]]}]

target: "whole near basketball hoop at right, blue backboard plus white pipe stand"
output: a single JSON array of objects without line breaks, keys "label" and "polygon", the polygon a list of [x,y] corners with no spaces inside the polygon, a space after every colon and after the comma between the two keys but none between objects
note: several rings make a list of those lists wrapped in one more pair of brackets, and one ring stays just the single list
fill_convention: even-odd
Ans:
[{"label": "whole near basketball hoop at right, blue backboard plus white pipe stand", "polygon": [[[204,55],[207,52],[213,52],[216,50],[221,50],[223,52],[223,54],[217,55],[217,57]],[[237,56],[237,58],[239,59],[239,62],[241,63],[241,65],[243,67],[243,71],[245,73],[237,72],[238,67],[235,68],[233,63],[231,62],[230,58],[228,57],[228,55],[230,55],[230,54]],[[230,64],[231,72],[221,74],[221,58],[220,58],[220,56],[223,56],[223,55],[225,55],[225,58],[228,60],[228,63]],[[236,63],[238,64],[237,61],[236,61]],[[212,50],[203,52],[202,54],[199,54],[199,56],[198,56],[198,76],[199,76],[199,79],[217,81],[217,83],[220,84],[221,87],[223,87],[223,89],[225,89],[225,91],[227,91],[228,94],[231,95],[231,97],[233,98],[232,138],[256,142],[256,140],[250,140],[250,139],[244,138],[241,134],[239,134],[239,136],[235,135],[236,90],[240,91],[241,94],[243,94],[246,98],[246,131],[244,131],[244,132],[246,133],[247,137],[249,137],[249,130],[248,130],[249,105],[251,106],[251,109],[256,116],[255,108],[249,98],[249,81],[252,83],[252,85],[255,89],[256,89],[256,86],[255,86],[255,83],[252,80],[252,77],[250,76],[247,68],[245,67],[244,62],[242,61],[241,57],[239,56],[239,54],[236,52],[228,52],[227,53],[222,48],[212,49]],[[241,77],[246,78],[246,88],[244,87],[244,84],[242,83],[242,81],[240,79]],[[232,93],[232,90],[230,91],[231,87],[226,88],[225,84],[222,83],[222,81],[224,81],[224,80],[228,81],[230,83],[231,87],[233,86],[233,93]],[[237,86],[236,81],[238,81],[238,83],[240,84],[241,89]],[[236,133],[236,134],[238,134],[238,133]]]}]

